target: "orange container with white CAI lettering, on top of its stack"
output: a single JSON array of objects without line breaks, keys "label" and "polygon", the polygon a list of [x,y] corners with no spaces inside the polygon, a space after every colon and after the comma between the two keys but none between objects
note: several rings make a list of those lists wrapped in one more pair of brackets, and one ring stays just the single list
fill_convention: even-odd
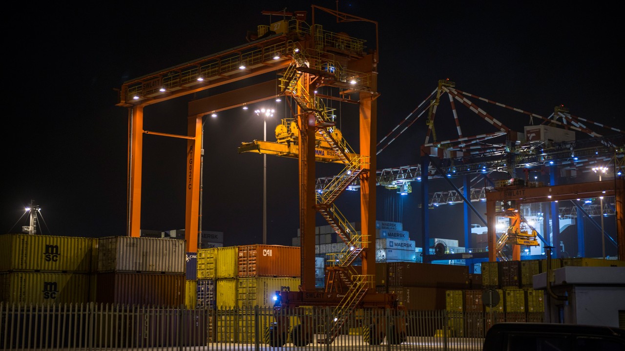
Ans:
[{"label": "orange container with white CAI lettering, on top of its stack", "polygon": [[297,246],[241,245],[238,251],[239,278],[299,277],[300,252]]}]

